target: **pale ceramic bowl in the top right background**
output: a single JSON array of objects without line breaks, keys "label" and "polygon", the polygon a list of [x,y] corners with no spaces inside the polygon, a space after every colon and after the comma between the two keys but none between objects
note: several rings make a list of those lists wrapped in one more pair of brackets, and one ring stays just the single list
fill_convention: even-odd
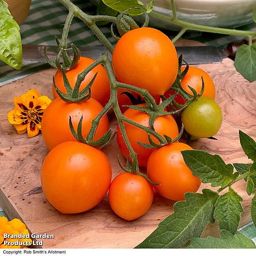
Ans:
[{"label": "pale ceramic bowl in the top right background", "polygon": [[[101,0],[91,0],[96,5]],[[150,0],[142,0],[148,4]],[[178,18],[200,25],[234,28],[253,22],[252,11],[256,0],[175,0]],[[170,0],[155,0],[154,11],[172,17]],[[143,17],[135,16],[142,21]],[[150,26],[168,30],[180,27],[150,14]]]}]

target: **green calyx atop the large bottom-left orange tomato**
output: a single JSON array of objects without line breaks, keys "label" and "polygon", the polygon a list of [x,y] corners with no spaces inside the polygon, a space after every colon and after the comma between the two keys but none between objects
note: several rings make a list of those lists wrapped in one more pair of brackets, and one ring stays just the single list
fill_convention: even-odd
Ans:
[{"label": "green calyx atop the large bottom-left orange tomato", "polygon": [[107,146],[108,144],[110,144],[113,141],[116,132],[114,132],[114,134],[112,135],[111,129],[108,130],[101,138],[99,138],[96,141],[93,141],[92,139],[90,139],[90,137],[88,138],[88,136],[87,136],[87,138],[82,137],[82,119],[83,119],[83,116],[81,116],[81,118],[79,120],[78,129],[76,132],[74,129],[72,120],[71,120],[71,116],[69,116],[70,131],[71,131],[72,135],[76,138],[76,140],[78,140],[78,142],[82,142],[84,144],[87,144],[89,146],[93,146],[96,148],[101,148],[101,147]]}]

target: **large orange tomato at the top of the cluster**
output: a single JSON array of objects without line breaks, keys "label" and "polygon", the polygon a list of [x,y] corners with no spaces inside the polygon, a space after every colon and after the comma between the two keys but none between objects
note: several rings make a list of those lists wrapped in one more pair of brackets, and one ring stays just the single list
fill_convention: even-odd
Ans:
[{"label": "large orange tomato at the top of the cluster", "polygon": [[119,82],[163,95],[178,73],[178,56],[172,41],[151,27],[125,33],[114,47],[112,64]]}]

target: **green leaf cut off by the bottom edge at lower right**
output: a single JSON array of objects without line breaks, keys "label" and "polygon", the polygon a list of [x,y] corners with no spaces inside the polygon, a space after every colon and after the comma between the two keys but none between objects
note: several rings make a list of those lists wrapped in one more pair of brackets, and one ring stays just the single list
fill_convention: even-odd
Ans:
[{"label": "green leaf cut off by the bottom edge at lower right", "polygon": [[220,231],[220,238],[192,238],[186,248],[256,248],[255,243],[240,232],[235,236],[227,230]]}]

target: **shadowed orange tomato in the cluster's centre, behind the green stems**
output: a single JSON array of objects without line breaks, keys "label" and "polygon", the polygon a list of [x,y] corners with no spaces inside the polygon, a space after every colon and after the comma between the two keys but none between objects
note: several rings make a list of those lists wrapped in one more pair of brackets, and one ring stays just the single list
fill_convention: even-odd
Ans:
[{"label": "shadowed orange tomato in the cluster's centre, behind the green stems", "polygon": [[[137,123],[149,127],[149,114],[145,112],[128,109],[123,113],[123,115]],[[129,142],[131,143],[133,150],[137,153],[137,160],[139,166],[146,167],[147,160],[155,149],[146,148],[139,145],[137,142],[149,144],[147,133],[144,130],[128,123],[124,123],[124,126]],[[172,139],[178,136],[178,126],[171,115],[157,117],[155,119],[154,128],[155,132],[160,134],[162,137],[164,136],[164,134],[171,137]],[[116,138],[119,149],[121,150],[123,156],[127,158],[130,154],[128,151],[128,147],[124,142],[123,135],[119,126],[117,128]],[[155,143],[159,143],[159,141],[154,136],[151,135],[151,138]]]}]

